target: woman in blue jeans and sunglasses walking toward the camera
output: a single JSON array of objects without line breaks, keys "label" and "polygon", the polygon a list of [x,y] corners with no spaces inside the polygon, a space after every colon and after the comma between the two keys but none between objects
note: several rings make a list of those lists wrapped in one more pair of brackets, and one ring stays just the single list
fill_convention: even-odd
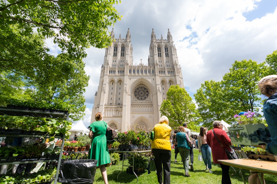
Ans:
[{"label": "woman in blue jeans and sunglasses walking toward the camera", "polygon": [[199,153],[202,154],[202,159],[205,164],[205,169],[209,170],[210,173],[213,173],[213,171],[211,171],[211,147],[207,144],[206,135],[207,135],[206,128],[200,127],[200,133],[197,136],[198,150],[199,150]]}]

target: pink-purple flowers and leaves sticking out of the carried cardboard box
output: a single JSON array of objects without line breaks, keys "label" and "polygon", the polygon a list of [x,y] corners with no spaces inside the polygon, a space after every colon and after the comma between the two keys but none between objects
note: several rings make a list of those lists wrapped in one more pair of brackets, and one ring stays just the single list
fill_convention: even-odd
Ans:
[{"label": "pink-purple flowers and leaves sticking out of the carried cardboard box", "polygon": [[234,118],[236,118],[241,125],[264,123],[264,120],[260,114],[251,111],[247,111],[247,113],[240,116],[235,114]]}]

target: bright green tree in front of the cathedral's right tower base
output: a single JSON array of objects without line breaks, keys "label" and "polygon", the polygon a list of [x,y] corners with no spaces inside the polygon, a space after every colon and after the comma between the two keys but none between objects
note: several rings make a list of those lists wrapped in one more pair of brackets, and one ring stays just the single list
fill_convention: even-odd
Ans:
[{"label": "bright green tree in front of the cathedral's right tower base", "polygon": [[167,91],[167,99],[163,101],[160,112],[167,116],[169,126],[177,129],[183,123],[188,123],[188,128],[199,131],[198,112],[191,97],[184,88],[180,86],[170,86]]}]

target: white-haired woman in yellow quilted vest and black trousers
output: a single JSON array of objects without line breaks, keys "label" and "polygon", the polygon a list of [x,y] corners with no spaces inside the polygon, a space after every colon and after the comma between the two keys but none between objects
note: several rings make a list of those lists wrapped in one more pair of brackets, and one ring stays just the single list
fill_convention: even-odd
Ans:
[{"label": "white-haired woman in yellow quilted vest and black trousers", "polygon": [[171,127],[168,126],[168,118],[162,116],[159,124],[156,124],[152,131],[154,131],[154,140],[151,143],[151,149],[155,156],[158,182],[170,184]]}]

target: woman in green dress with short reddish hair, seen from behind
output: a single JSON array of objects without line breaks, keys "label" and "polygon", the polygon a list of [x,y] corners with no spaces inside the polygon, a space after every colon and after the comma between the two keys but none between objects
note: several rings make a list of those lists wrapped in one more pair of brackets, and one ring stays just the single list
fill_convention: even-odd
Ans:
[{"label": "woman in green dress with short reddish hair, seen from behind", "polygon": [[105,184],[108,184],[108,177],[105,164],[110,163],[110,155],[107,146],[106,130],[107,123],[102,121],[102,113],[95,114],[95,120],[90,124],[89,138],[92,138],[92,143],[89,150],[89,159],[98,160],[99,166]]}]

